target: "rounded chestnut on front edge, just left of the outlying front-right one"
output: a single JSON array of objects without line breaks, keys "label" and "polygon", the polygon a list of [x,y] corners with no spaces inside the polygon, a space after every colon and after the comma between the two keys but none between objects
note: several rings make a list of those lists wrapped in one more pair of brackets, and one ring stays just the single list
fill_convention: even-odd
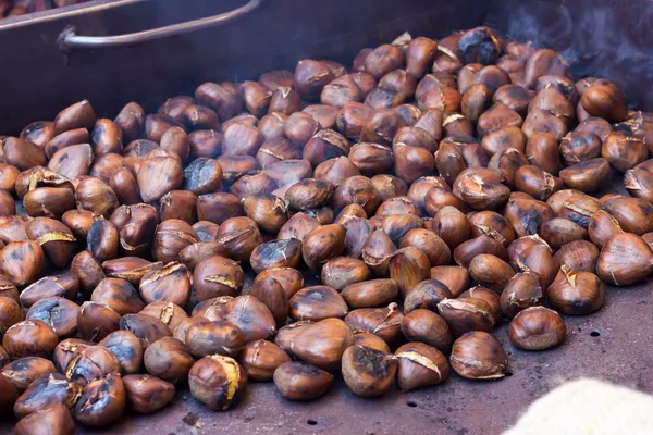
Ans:
[{"label": "rounded chestnut on front edge, just left of the outlying front-right one", "polygon": [[508,357],[492,335],[472,331],[466,333],[452,348],[452,369],[468,380],[495,380],[504,376]]}]

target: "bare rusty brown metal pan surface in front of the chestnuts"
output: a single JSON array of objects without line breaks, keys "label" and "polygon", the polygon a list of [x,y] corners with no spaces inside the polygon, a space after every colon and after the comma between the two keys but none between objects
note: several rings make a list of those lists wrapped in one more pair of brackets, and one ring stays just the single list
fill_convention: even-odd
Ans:
[{"label": "bare rusty brown metal pan surface in front of the chestnuts", "polygon": [[[340,381],[321,399],[291,402],[274,385],[250,384],[244,400],[211,412],[182,389],[174,402],[151,415],[125,415],[101,433],[124,434],[500,434],[528,405],[564,381],[597,377],[653,394],[653,283],[606,288],[594,315],[566,316],[564,345],[542,352],[516,349],[507,323],[495,335],[510,361],[509,377],[471,382],[453,374],[438,387],[379,399],[354,396]],[[599,336],[593,336],[599,333]],[[0,424],[9,433],[10,422]],[[93,434],[79,427],[79,434]]]}]

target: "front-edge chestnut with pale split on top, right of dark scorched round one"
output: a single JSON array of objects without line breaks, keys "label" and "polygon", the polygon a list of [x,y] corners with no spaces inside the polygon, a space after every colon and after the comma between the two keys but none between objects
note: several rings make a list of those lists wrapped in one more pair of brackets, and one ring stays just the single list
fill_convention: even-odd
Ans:
[{"label": "front-edge chestnut with pale split on top, right of dark scorched round one", "polygon": [[394,355],[397,358],[397,384],[404,393],[448,380],[446,357],[434,347],[407,343]]}]

